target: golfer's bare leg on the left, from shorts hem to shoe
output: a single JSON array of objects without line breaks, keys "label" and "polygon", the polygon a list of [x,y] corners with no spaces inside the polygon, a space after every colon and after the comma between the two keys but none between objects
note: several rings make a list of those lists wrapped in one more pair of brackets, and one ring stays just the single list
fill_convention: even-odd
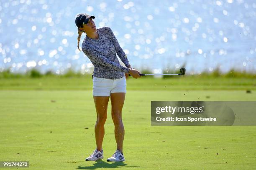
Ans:
[{"label": "golfer's bare leg on the left, from shorts hem to shoe", "polygon": [[95,108],[97,112],[97,120],[95,124],[95,140],[97,150],[102,150],[102,141],[104,138],[105,130],[104,124],[107,120],[108,101],[109,96],[93,96]]}]

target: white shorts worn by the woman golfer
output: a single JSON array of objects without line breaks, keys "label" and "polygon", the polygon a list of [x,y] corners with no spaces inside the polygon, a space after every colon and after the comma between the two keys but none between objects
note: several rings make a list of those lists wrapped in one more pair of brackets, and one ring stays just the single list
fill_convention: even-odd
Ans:
[{"label": "white shorts worn by the woman golfer", "polygon": [[124,92],[126,93],[126,79],[125,77],[119,79],[107,79],[93,76],[93,90],[94,96],[110,96],[110,93]]}]

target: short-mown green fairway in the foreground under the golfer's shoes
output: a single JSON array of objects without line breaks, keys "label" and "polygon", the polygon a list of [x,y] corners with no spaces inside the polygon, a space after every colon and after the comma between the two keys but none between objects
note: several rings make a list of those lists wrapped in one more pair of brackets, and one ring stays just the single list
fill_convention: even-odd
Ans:
[{"label": "short-mown green fairway in the foreground under the golfer's shoes", "polygon": [[[33,81],[40,79],[24,83]],[[14,89],[5,82],[1,82],[2,89]],[[187,90],[189,85],[186,90],[170,90],[161,84],[161,90],[128,87],[123,107],[124,163],[106,161],[116,149],[110,101],[103,141],[105,158],[84,161],[96,147],[92,90],[26,90],[25,86],[22,90],[0,90],[0,161],[29,161],[31,170],[256,169],[256,126],[151,127],[150,122],[151,100],[255,100],[255,90]]]}]

